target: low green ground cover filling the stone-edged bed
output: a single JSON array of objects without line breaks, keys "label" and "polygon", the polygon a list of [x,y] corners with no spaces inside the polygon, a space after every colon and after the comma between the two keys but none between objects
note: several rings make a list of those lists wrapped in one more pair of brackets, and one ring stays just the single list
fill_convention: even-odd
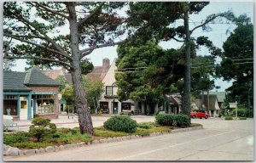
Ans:
[{"label": "low green ground cover filling the stone-edged bed", "polygon": [[[201,124],[192,123],[191,126],[201,126]],[[103,126],[95,127],[95,136],[80,134],[79,127],[58,128],[54,134],[50,134],[42,139],[42,142],[36,142],[28,132],[16,132],[3,134],[3,143],[19,149],[39,149],[47,146],[60,146],[68,143],[91,142],[94,139],[114,138],[129,135],[148,136],[153,132],[169,132],[177,126],[160,126],[154,122],[144,122],[137,124],[137,131],[133,133],[113,132],[105,129]]]}]

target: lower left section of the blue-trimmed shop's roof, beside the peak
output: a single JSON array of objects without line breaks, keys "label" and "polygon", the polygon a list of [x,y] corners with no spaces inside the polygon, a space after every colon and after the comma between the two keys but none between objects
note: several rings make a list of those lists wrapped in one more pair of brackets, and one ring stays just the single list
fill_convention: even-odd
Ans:
[{"label": "lower left section of the blue-trimmed shop's roof, beside the peak", "polygon": [[3,71],[3,91],[30,91],[24,79],[26,72]]}]

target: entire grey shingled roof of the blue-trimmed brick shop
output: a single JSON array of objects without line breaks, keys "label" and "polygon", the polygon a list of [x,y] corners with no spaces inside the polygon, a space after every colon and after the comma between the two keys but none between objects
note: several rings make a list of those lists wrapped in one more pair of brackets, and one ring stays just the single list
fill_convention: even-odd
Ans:
[{"label": "entire grey shingled roof of the blue-trimmed brick shop", "polygon": [[42,74],[37,67],[26,72],[3,71],[3,91],[31,91],[29,86],[59,85],[59,82]]}]

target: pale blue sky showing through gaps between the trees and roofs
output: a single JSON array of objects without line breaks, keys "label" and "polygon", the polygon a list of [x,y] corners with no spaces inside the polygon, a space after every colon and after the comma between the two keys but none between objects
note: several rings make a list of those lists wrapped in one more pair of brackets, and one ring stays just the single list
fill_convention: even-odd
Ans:
[{"label": "pale blue sky showing through gaps between the trees and roofs", "polygon": [[[218,14],[221,12],[232,11],[236,16],[240,14],[247,14],[253,22],[253,3],[252,2],[211,2],[207,7],[203,8],[199,14],[190,15],[189,27],[192,29],[195,25],[200,25],[201,20],[205,20],[209,14]],[[177,20],[177,25],[180,20]],[[211,24],[212,31],[202,31],[201,28],[194,31],[192,37],[206,36],[213,42],[218,48],[222,48],[223,42],[226,41],[227,37],[230,36],[230,33],[226,34],[226,31],[233,31],[236,26],[231,24]],[[179,48],[181,46],[180,42],[170,41],[170,42],[160,42],[160,47],[162,48]],[[99,48],[96,49],[93,53],[87,56],[88,59],[92,62],[93,65],[102,65],[102,59],[110,59],[110,63],[113,62],[113,59],[117,58],[116,52],[117,46],[108,47],[108,48]],[[201,48],[198,51],[200,55],[207,55],[207,49]],[[217,59],[220,61],[220,59]],[[14,71],[24,71],[26,67],[26,60],[19,59],[16,62],[16,66],[12,69]],[[224,82],[222,79],[215,80],[215,86],[220,86],[218,91],[224,91],[226,88],[230,87],[232,82]],[[212,91],[216,91],[213,89]]]}]

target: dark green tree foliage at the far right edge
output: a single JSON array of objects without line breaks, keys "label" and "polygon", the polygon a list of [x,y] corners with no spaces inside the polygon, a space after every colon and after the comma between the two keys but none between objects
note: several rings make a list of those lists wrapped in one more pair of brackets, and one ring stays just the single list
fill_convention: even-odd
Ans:
[{"label": "dark green tree foliage at the far right edge", "polygon": [[245,15],[237,18],[236,22],[236,29],[224,42],[222,62],[216,73],[223,76],[225,81],[235,80],[227,89],[229,102],[236,99],[238,104],[250,108],[253,105],[253,24]]}]

